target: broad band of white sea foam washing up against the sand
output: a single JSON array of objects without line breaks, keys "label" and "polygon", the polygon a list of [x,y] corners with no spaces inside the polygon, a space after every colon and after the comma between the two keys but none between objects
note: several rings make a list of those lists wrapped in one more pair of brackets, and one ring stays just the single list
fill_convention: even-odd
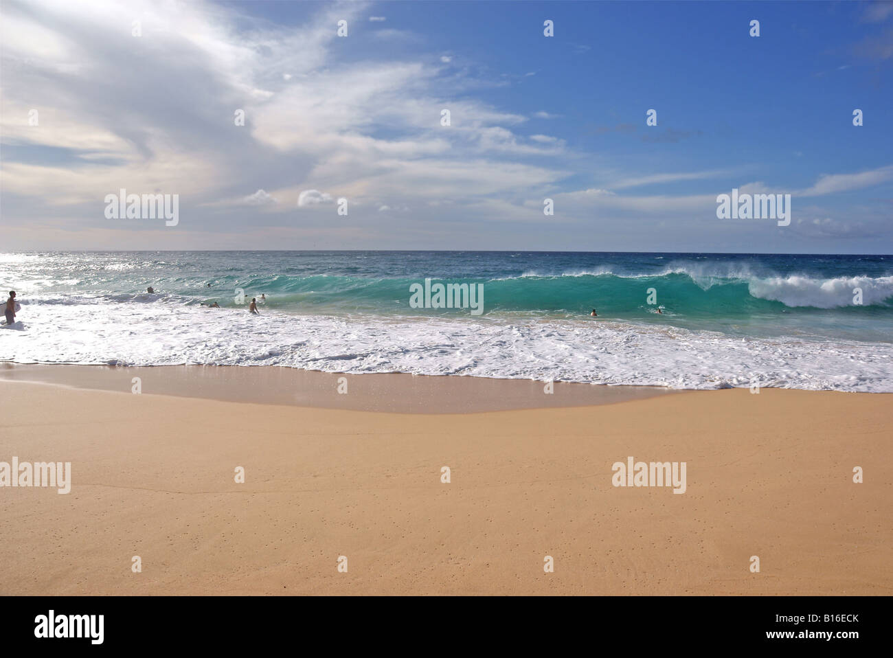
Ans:
[{"label": "broad band of white sea foam washing up against the sand", "polygon": [[155,297],[138,304],[32,299],[17,318],[25,329],[0,332],[0,359],[893,392],[889,343],[742,338],[588,319],[255,316]]}]

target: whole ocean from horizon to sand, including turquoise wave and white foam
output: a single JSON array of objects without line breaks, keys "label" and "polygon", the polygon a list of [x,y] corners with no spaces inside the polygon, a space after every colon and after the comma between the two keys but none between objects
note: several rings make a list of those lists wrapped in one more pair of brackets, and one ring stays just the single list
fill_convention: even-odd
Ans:
[{"label": "whole ocean from horizon to sand, including turquoise wave and white foam", "polygon": [[28,252],[0,282],[9,362],[893,392],[890,255]]}]

